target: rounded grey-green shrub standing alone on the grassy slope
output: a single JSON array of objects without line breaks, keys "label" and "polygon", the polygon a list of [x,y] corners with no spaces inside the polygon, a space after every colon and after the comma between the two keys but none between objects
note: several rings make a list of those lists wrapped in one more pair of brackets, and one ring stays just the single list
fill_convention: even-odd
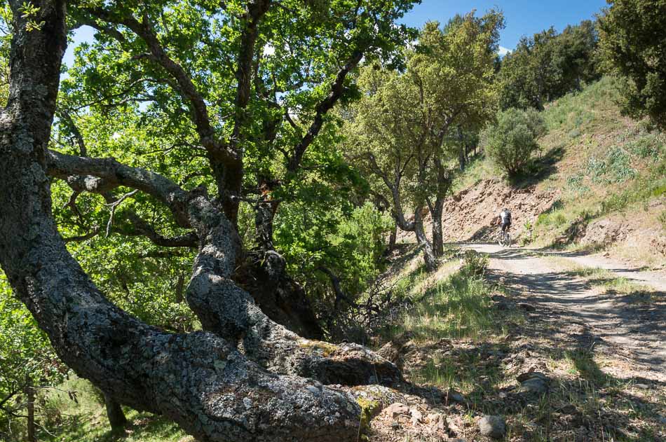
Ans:
[{"label": "rounded grey-green shrub standing alone on the grassy slope", "polygon": [[481,133],[481,144],[509,177],[515,177],[538,151],[536,139],[544,133],[545,124],[538,111],[507,109],[498,113],[496,124]]}]

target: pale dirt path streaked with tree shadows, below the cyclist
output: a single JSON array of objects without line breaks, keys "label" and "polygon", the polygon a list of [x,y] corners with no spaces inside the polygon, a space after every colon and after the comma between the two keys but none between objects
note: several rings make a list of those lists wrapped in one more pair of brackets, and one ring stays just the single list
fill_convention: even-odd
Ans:
[{"label": "pale dirt path streaked with tree shadows, below the cyclist", "polygon": [[[641,293],[604,293],[588,278],[571,276],[567,268],[529,249],[503,249],[496,244],[465,244],[488,254],[491,275],[515,289],[524,301],[545,315],[584,325],[611,354],[640,366],[646,376],[666,380],[666,275],[627,268],[596,256],[558,254],[579,265],[604,268],[632,282],[651,286],[651,300]],[[638,368],[638,367],[637,367]]]}]

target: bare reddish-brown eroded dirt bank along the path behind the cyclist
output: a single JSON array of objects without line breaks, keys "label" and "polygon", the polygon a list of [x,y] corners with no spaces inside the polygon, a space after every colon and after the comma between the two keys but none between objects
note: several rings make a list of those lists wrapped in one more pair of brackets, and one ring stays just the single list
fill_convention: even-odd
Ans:
[{"label": "bare reddish-brown eroded dirt bank along the path behind the cyclist", "polygon": [[[500,179],[484,179],[447,199],[442,217],[444,241],[493,241],[497,227],[491,223],[503,207],[512,213],[514,239],[522,239],[529,235],[526,228],[534,226],[539,215],[554,209],[561,198],[559,190],[543,191],[534,185],[512,187]],[[666,230],[656,221],[662,213],[666,213],[666,197],[655,198],[635,210],[576,219],[566,229],[563,224],[562,232],[553,233],[549,244],[606,249],[614,258],[634,265],[664,267]],[[430,214],[426,214],[425,222],[430,235]],[[413,234],[402,233],[402,238],[412,242]]]}]

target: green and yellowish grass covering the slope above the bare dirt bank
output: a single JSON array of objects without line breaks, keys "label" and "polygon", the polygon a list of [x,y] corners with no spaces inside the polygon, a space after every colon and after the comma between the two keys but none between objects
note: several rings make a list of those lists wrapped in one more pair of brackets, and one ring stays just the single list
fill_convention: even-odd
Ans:
[{"label": "green and yellowish grass covering the slope above the bare dirt bank", "polygon": [[[538,217],[532,244],[543,247],[568,240],[566,232],[574,223],[613,214],[631,214],[629,221],[636,229],[662,228],[659,213],[646,207],[666,193],[665,134],[620,116],[615,98],[611,79],[604,78],[544,111],[550,132],[541,139],[543,151],[559,149],[564,154],[555,172],[538,184],[543,190],[559,191],[560,198]],[[645,248],[623,247],[621,255],[654,261],[641,250]]]}]

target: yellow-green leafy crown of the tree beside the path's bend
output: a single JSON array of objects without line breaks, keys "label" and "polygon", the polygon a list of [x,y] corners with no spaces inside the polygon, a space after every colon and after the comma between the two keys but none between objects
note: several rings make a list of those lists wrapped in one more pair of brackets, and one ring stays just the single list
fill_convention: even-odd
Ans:
[{"label": "yellow-green leafy crown of the tree beside the path's bend", "polygon": [[458,17],[444,29],[429,22],[419,45],[405,52],[405,73],[372,64],[362,69],[362,99],[341,115],[346,155],[361,160],[375,191],[392,200],[388,181],[412,205],[442,193],[449,130],[494,116],[494,48],[502,26],[496,11]]}]

